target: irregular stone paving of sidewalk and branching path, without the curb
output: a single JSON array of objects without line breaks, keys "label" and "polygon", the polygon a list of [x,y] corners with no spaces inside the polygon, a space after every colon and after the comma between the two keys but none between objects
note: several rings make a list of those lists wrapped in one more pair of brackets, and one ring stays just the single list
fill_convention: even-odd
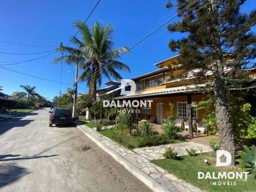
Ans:
[{"label": "irregular stone paving of sidewalk and branching path, without the curb", "polygon": [[164,186],[170,192],[202,192],[199,188],[190,185],[181,179],[177,179],[175,175],[167,173],[167,171],[161,167],[150,163],[149,160],[163,158],[162,153],[165,152],[165,150],[170,146],[175,147],[175,151],[178,152],[179,155],[187,154],[186,148],[193,148],[197,152],[208,152],[209,150],[211,151],[208,146],[186,142],[137,148],[131,151],[117,144],[115,141],[102,136],[100,133],[87,126],[82,127],[84,132],[89,132],[89,134],[92,134],[94,137],[99,139],[103,145],[115,151],[122,158],[126,159],[133,166],[146,173],[149,177],[154,179],[160,185]]}]

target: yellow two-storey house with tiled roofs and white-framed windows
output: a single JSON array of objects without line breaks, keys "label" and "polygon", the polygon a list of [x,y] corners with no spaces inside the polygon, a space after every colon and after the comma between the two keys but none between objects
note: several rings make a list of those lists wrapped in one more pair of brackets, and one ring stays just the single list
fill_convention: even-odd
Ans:
[{"label": "yellow two-storey house with tiled roofs and white-framed windows", "polygon": [[[117,97],[115,100],[153,100],[151,108],[141,108],[141,113],[138,116],[142,119],[156,119],[158,124],[163,124],[163,119],[168,118],[170,104],[174,104],[174,113],[178,114],[176,119],[178,125],[185,129],[189,129],[190,125],[198,132],[205,132],[207,130],[202,122],[202,114],[204,112],[197,110],[195,105],[191,105],[198,103],[203,97],[207,96],[200,89],[195,91],[196,86],[191,85],[191,80],[194,78],[193,74],[199,70],[182,69],[178,65],[178,57],[179,55],[158,62],[155,64],[155,66],[159,67],[158,70],[133,78],[132,80],[136,83],[136,92]],[[251,80],[255,84],[256,68],[248,69],[248,71]],[[230,70],[227,70],[227,73],[229,72]],[[206,74],[210,84],[210,80],[212,80],[211,73],[208,72]],[[203,87],[206,84],[198,86]],[[250,99],[250,101],[252,100]],[[252,108],[256,107],[255,104],[252,103],[252,105]],[[188,106],[192,107],[192,113],[189,113]]]}]

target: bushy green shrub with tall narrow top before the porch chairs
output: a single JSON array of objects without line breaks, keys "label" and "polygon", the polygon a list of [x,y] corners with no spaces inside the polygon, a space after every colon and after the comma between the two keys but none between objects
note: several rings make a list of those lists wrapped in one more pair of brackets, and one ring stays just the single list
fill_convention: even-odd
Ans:
[{"label": "bushy green shrub with tall narrow top before the porch chairs", "polygon": [[179,132],[182,132],[182,128],[177,126],[175,123],[176,116],[173,115],[174,112],[174,105],[170,105],[170,112],[168,119],[164,120],[163,124],[163,132],[171,139],[175,139]]}]

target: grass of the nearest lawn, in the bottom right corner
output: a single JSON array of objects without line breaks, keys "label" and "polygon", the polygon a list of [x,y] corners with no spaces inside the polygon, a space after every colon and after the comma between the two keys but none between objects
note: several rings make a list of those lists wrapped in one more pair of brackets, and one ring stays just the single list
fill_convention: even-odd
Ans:
[{"label": "grass of the nearest lawn, in the bottom right corner", "polygon": [[[210,165],[204,163],[204,159],[207,159]],[[247,181],[221,179],[221,181],[226,182],[236,181],[236,185],[210,185],[210,181],[218,182],[219,179],[197,179],[197,172],[234,172],[234,169],[238,172],[242,171],[238,167],[233,169],[216,167],[216,156],[210,157],[210,153],[202,153],[194,157],[184,156],[182,160],[157,159],[153,160],[152,163],[207,192],[256,192],[256,179],[252,179],[250,175]]]}]

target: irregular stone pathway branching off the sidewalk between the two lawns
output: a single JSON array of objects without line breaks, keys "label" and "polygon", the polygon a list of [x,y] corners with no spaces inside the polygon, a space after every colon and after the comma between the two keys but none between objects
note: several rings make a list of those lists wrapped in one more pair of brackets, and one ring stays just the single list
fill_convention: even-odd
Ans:
[{"label": "irregular stone pathway branching off the sidewalk between the two lawns", "polygon": [[194,149],[196,153],[201,152],[211,152],[212,149],[209,146],[205,146],[202,144],[194,143],[194,142],[183,142],[183,143],[173,143],[161,146],[150,146],[150,147],[142,147],[136,148],[133,151],[141,155],[142,157],[153,160],[153,159],[163,159],[162,154],[166,151],[168,147],[174,147],[175,152],[178,153],[178,156],[188,155],[186,149]]}]

